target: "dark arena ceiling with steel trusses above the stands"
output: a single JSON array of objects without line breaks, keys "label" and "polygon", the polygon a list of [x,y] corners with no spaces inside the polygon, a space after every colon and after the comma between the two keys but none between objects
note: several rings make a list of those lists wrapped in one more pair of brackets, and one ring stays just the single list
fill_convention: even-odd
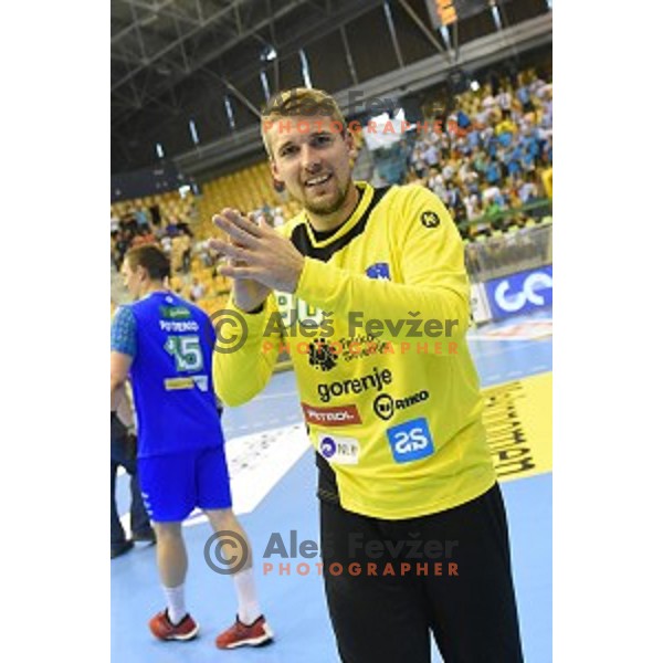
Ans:
[{"label": "dark arena ceiling with steel trusses above the stands", "polygon": [[[494,31],[488,0],[463,1],[485,15],[461,28]],[[508,11],[545,4],[508,0]],[[261,75],[271,92],[301,85],[302,49],[330,92],[444,55],[427,0],[112,0],[110,17],[113,172],[152,165],[156,143],[167,158],[191,149],[191,119],[201,145],[255,124]]]}]

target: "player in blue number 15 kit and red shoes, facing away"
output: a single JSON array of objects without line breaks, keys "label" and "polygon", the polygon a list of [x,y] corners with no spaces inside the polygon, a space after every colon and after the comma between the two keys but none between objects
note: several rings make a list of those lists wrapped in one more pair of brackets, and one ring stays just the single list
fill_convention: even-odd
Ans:
[{"label": "player in blue number 15 kit and red shoes, facing away", "polygon": [[[207,314],[167,290],[170,263],[155,245],[127,252],[122,267],[135,302],[118,308],[110,338],[110,407],[130,379],[138,420],[138,474],[157,535],[157,565],[167,608],[149,628],[160,640],[190,640],[198,624],[185,607],[187,550],[182,520],[194,507],[209,517],[239,559],[232,578],[235,623],[217,638],[232,649],[272,640],[257,600],[249,538],[232,512],[223,433],[212,386],[214,330]],[[245,543],[244,555],[236,541]]]}]

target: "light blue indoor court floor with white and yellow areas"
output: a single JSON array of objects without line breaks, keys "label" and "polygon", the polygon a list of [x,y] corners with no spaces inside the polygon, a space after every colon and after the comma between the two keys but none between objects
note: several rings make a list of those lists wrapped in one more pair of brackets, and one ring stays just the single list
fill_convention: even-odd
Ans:
[{"label": "light blue indoor court floor with white and yellow areas", "polygon": [[[487,399],[486,427],[509,519],[512,560],[525,661],[552,661],[552,449],[551,311],[513,317],[471,332],[471,349]],[[112,561],[112,660],[115,663],[337,663],[327,618],[319,558],[271,557],[273,533],[290,546],[318,540],[316,471],[305,439],[292,371],[276,373],[251,403],[223,419],[235,511],[253,546],[261,603],[276,634],[269,646],[219,651],[218,632],[234,620],[229,577],[208,568],[203,548],[211,535],[197,514],[189,518],[187,607],[200,624],[197,640],[159,642],[148,619],[165,606],[155,548],[137,544]],[[128,478],[118,478],[119,513],[128,511]],[[278,572],[278,562],[290,562]],[[307,567],[297,565],[305,562]],[[304,575],[308,568],[309,572]],[[432,648],[432,661],[441,661]],[[497,662],[496,662],[497,663]]]}]

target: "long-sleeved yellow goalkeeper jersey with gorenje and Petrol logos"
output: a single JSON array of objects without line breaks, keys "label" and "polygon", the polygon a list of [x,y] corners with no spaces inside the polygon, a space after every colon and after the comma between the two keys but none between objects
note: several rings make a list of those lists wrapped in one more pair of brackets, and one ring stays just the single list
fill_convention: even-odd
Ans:
[{"label": "long-sleeved yellow goalkeeper jersey with gorenje and Petrol logos", "polygon": [[463,244],[442,202],[420,186],[376,190],[333,232],[304,212],[283,232],[305,256],[294,295],[262,312],[229,309],[243,345],[214,352],[229,406],[266,385],[292,356],[320,498],[358,514],[402,519],[464,504],[495,483],[467,349]]}]

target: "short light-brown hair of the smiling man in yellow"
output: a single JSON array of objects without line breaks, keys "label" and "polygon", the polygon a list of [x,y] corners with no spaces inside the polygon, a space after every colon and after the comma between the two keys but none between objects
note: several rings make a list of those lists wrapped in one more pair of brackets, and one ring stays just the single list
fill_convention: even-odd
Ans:
[{"label": "short light-brown hair of the smiling man in yellow", "polygon": [[261,112],[260,133],[270,157],[272,157],[272,149],[267,141],[265,126],[271,127],[283,117],[302,115],[327,115],[329,119],[343,127],[341,133],[346,131],[346,119],[329,93],[315,87],[292,87],[273,95]]}]

